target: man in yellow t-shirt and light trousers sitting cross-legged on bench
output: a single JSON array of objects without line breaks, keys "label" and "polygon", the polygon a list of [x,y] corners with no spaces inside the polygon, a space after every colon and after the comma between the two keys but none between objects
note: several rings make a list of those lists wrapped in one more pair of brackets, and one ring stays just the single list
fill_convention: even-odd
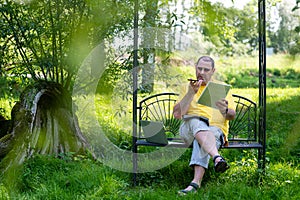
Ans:
[{"label": "man in yellow t-shirt and light trousers sitting cross-legged on bench", "polygon": [[209,56],[200,57],[195,70],[197,80],[190,80],[182,88],[173,110],[174,117],[183,120],[180,127],[181,137],[186,143],[193,142],[189,165],[194,168],[194,178],[187,188],[179,191],[180,194],[197,191],[210,157],[213,157],[216,172],[225,172],[229,168],[218,149],[222,142],[227,141],[229,120],[235,117],[232,95],[229,91],[226,98],[215,102],[217,109],[198,104],[206,84],[209,81],[219,81],[212,78],[215,66],[214,60]]}]

